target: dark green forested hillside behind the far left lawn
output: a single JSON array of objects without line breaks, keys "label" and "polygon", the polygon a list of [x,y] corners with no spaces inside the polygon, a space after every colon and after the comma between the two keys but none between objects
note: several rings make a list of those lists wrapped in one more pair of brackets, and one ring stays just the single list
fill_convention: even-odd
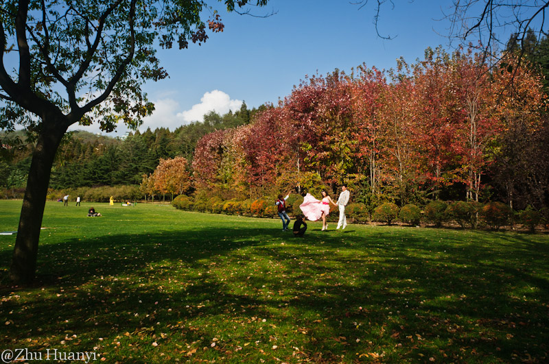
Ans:
[{"label": "dark green forested hillside behind the far left lawn", "polygon": [[[200,122],[182,125],[173,132],[166,128],[141,133],[131,132],[125,138],[75,131],[65,136],[51,171],[52,189],[82,186],[140,184],[143,174],[152,173],[161,158],[193,158],[196,143],[211,132],[237,128],[250,123],[256,112],[243,103],[240,110],[224,115],[210,112]],[[21,193],[27,182],[27,171],[33,148],[32,134],[19,130],[0,133],[0,186],[6,197]],[[12,195],[12,196],[10,196]]]}]

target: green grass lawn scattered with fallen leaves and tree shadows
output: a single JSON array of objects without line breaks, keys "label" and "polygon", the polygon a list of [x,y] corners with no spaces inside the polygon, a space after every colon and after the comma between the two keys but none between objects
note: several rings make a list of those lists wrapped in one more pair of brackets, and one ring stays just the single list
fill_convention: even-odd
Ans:
[{"label": "green grass lawn scattered with fallen leaves and tree shadows", "polygon": [[[107,363],[548,363],[549,236],[48,202],[34,287],[10,287],[0,348]],[[0,201],[0,231],[21,202]],[[28,358],[27,358],[28,359]]]}]

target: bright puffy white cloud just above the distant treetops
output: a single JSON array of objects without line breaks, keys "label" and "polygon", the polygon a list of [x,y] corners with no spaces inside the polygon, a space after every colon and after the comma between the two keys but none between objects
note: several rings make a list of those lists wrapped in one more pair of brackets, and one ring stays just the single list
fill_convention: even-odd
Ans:
[{"label": "bright puffy white cloud just above the distant treetops", "polygon": [[194,105],[191,110],[178,112],[177,117],[183,119],[185,123],[191,123],[191,121],[202,121],[202,117],[210,111],[226,114],[229,110],[238,110],[240,106],[242,101],[231,100],[231,97],[223,91],[213,90],[202,96],[200,104]]}]

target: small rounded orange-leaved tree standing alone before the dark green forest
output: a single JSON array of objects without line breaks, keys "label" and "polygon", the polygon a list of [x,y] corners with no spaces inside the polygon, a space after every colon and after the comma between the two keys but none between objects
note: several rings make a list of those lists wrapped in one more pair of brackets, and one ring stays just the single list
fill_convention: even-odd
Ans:
[{"label": "small rounded orange-leaved tree standing alone before the dark green forest", "polygon": [[176,157],[161,159],[153,173],[154,188],[161,193],[182,195],[191,187],[191,175],[187,170],[187,159]]}]

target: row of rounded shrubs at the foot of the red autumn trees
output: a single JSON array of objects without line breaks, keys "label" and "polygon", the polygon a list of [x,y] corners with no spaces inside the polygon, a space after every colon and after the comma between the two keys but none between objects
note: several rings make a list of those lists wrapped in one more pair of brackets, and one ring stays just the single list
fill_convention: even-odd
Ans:
[{"label": "row of rounded shrubs at the foot of the red autumn trees", "polygon": [[[299,205],[302,202],[303,197],[290,195],[286,203],[288,214],[297,215],[301,213]],[[193,210],[201,213],[225,213],[227,215],[257,217],[277,216],[277,206],[274,205],[274,198],[270,197],[246,199],[244,201],[237,199],[224,201],[219,197],[211,197],[195,201],[189,196],[179,195],[174,199],[172,205],[180,210]],[[330,212],[329,219],[338,219],[337,208],[331,206]],[[347,206],[345,213],[347,218],[358,223],[373,219],[390,225],[393,221],[398,220],[417,226],[423,221],[437,227],[442,226],[443,223],[457,223],[462,228],[477,228],[479,224],[483,224],[495,230],[518,221],[534,231],[535,226],[541,222],[541,214],[537,211],[526,210],[522,213],[514,213],[509,206],[501,202],[489,202],[482,205],[477,202],[457,201],[447,204],[442,201],[432,201],[423,210],[414,204],[399,208],[395,204],[386,203],[377,206],[371,217],[365,204],[353,203]]]}]

